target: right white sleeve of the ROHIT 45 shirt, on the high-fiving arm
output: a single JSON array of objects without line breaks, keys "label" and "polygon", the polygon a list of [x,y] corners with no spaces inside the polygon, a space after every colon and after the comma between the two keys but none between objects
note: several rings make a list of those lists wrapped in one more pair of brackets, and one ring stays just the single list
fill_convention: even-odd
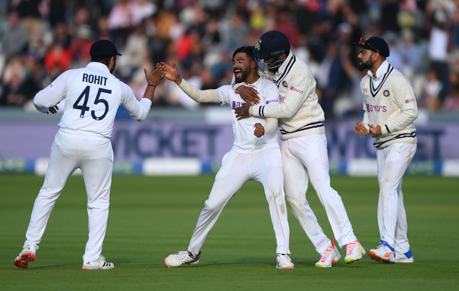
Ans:
[{"label": "right white sleeve of the ROHIT 45 shirt, on the high-fiving arm", "polygon": [[144,121],[151,108],[151,100],[142,98],[140,101],[135,98],[132,89],[123,82],[120,82],[121,106],[137,121]]}]

